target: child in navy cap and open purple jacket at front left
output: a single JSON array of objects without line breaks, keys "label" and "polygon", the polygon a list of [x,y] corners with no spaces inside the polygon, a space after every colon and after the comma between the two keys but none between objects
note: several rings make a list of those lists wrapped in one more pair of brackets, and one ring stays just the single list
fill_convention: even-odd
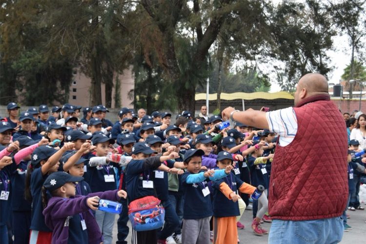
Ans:
[{"label": "child in navy cap and open purple jacket at front left", "polygon": [[[118,201],[126,192],[105,191],[81,196],[76,194],[75,183],[82,177],[56,172],[47,177],[42,187],[43,215],[52,230],[52,244],[102,243],[102,233],[93,214],[99,199]],[[47,194],[52,197],[47,201]]]}]

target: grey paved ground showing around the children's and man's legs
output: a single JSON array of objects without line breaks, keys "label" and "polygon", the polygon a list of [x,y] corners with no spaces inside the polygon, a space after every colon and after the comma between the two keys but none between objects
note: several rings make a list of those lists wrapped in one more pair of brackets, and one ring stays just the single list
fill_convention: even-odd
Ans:
[{"label": "grey paved ground showing around the children's and man's legs", "polygon": [[[363,205],[366,207],[365,205]],[[348,219],[348,224],[352,226],[352,230],[349,232],[345,232],[343,235],[342,244],[365,244],[366,241],[366,210],[356,210],[355,212],[347,211],[351,216]],[[251,210],[245,210],[244,215],[241,219],[241,222],[245,225],[245,229],[238,230],[240,243],[242,244],[266,244],[268,243],[268,235],[264,236],[255,236],[250,228],[251,224]],[[262,224],[265,229],[270,229],[271,224],[264,223]],[[131,225],[129,224],[131,227]],[[116,224],[114,225],[113,230],[113,243],[117,240],[117,218]],[[131,237],[128,236],[128,243],[131,243]]]}]

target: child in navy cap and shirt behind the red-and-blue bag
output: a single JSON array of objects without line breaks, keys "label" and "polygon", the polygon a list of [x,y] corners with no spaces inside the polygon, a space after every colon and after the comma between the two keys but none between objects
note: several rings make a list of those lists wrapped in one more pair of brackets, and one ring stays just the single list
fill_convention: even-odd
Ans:
[{"label": "child in navy cap and shirt behind the red-and-blue bag", "polygon": [[[162,163],[178,157],[175,152],[170,153],[168,156],[150,157],[152,153],[155,153],[155,151],[151,150],[148,144],[144,142],[138,142],[132,148],[132,161],[128,163],[125,170],[126,188],[130,203],[146,196],[156,196],[155,172],[153,170],[159,169],[169,172],[170,168]],[[133,230],[132,243],[156,244],[157,230],[139,232]]]}]

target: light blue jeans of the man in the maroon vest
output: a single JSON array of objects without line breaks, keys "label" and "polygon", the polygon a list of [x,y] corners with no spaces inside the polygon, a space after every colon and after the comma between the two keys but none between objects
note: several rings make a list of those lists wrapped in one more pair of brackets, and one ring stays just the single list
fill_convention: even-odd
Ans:
[{"label": "light blue jeans of the man in the maroon vest", "polygon": [[335,244],[343,237],[341,217],[309,221],[273,220],[268,244]]}]

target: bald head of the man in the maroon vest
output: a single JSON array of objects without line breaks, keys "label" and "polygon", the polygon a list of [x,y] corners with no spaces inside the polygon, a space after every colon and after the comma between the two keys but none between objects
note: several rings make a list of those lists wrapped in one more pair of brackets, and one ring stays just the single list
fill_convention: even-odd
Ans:
[{"label": "bald head of the man in the maroon vest", "polygon": [[295,106],[305,98],[320,94],[328,94],[328,81],[326,81],[326,78],[317,73],[306,74],[297,84],[294,94]]}]

